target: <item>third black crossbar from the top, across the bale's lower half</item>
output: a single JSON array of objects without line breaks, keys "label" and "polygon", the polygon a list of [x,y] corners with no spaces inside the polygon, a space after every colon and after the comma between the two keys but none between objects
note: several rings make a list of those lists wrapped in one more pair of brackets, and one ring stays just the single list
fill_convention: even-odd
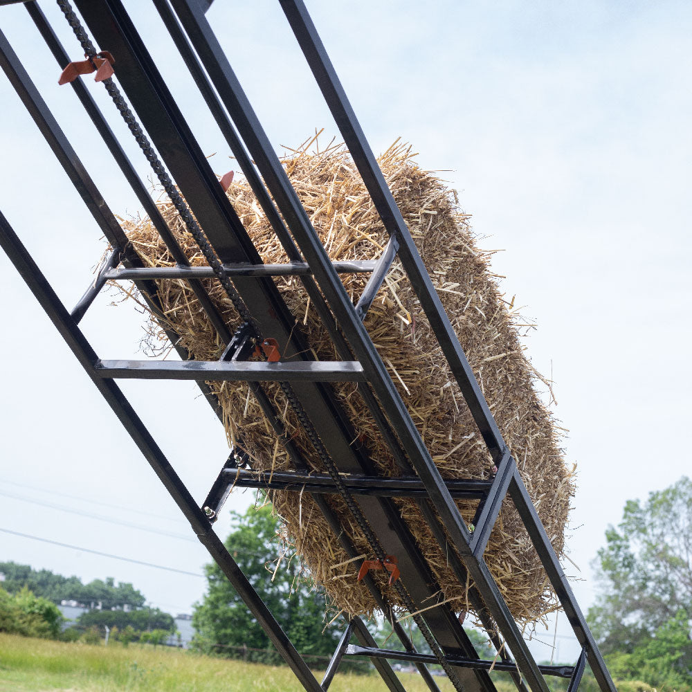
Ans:
[{"label": "third black crossbar from the top, across the bale's lower half", "polygon": [[[295,471],[274,471],[273,473],[256,473],[224,468],[222,474],[229,477],[229,483],[239,488],[262,488],[269,490],[307,491],[310,493],[337,493],[338,490],[329,475],[297,473]],[[423,482],[414,476],[381,478],[378,476],[345,475],[343,481],[350,493],[354,495],[376,495],[393,498],[425,498],[428,491]],[[455,498],[482,498],[491,486],[492,481],[484,480],[447,480],[446,485]]]}]

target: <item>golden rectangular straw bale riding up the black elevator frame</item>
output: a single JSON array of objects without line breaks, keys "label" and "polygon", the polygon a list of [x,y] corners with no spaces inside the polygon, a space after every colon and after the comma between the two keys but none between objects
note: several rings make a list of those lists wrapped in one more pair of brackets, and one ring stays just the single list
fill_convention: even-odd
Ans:
[{"label": "golden rectangular straw bale riding up the black elevator frame", "polygon": [[[574,494],[573,477],[565,467],[552,415],[536,392],[538,375],[523,353],[516,309],[513,302],[504,300],[489,268],[492,252],[477,248],[468,215],[459,210],[455,192],[418,167],[410,147],[393,145],[379,163],[502,435],[518,460],[547,534],[557,554],[562,555],[565,522]],[[332,260],[373,259],[381,253],[388,236],[343,147],[335,145],[312,154],[303,148],[286,157],[284,166]],[[286,262],[248,185],[243,180],[235,181],[228,197],[262,260]],[[206,264],[172,205],[161,203],[161,211],[190,262],[194,266]],[[125,230],[145,264],[174,264],[148,219],[129,221]],[[357,300],[367,275],[348,274],[342,275],[342,279]],[[334,346],[309,307],[300,280],[277,277],[275,281],[318,358],[336,358]],[[185,282],[162,280],[158,285],[167,320],[181,335],[181,343],[191,356],[201,360],[218,358],[221,344]],[[206,285],[231,329],[235,329],[239,318],[221,286],[214,280],[207,280]],[[443,477],[488,478],[493,466],[489,454],[398,260],[372,304],[365,325]],[[159,327],[152,321],[154,331]],[[230,443],[236,444],[237,435],[242,432],[244,448],[254,468],[290,469],[288,455],[278,444],[247,385],[214,382],[210,386],[223,408]],[[400,475],[356,392],[356,385],[337,383],[334,388],[380,473]],[[324,472],[290,408],[286,410],[280,388],[271,384],[266,390],[276,409],[285,412],[289,435],[295,433],[295,441],[311,467]],[[349,614],[372,614],[376,605],[365,586],[356,583],[356,563],[348,561],[309,495],[273,492],[271,501],[284,519],[286,537],[295,545],[313,579],[325,588],[331,605]],[[331,496],[329,502],[342,518],[349,538],[360,552],[370,556],[371,549],[343,500]],[[457,610],[468,610],[468,585],[455,579],[417,505],[412,500],[396,502],[437,576],[440,599],[452,599]],[[467,523],[473,518],[475,504],[458,502]],[[503,504],[485,558],[518,621],[542,619],[556,608],[545,572],[509,500]],[[376,572],[374,576],[385,598],[401,605],[397,592],[386,584],[385,574]]]}]

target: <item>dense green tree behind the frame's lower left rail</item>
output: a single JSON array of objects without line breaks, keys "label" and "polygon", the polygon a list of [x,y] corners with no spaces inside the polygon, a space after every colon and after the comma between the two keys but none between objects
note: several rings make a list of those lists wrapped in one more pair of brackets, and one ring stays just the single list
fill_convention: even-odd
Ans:
[{"label": "dense green tree behind the frame's lower left rail", "polygon": [[[325,630],[325,598],[300,577],[298,558],[286,554],[275,569],[280,523],[271,506],[251,508],[244,515],[233,513],[233,525],[226,547],[298,651],[327,656],[334,653],[340,632],[336,627]],[[205,569],[207,592],[194,606],[192,617],[197,630],[194,646],[207,653],[230,656],[238,655],[230,647],[273,649],[218,565],[206,565]],[[248,657],[260,658],[252,652]],[[261,658],[279,660],[275,655]]]}]

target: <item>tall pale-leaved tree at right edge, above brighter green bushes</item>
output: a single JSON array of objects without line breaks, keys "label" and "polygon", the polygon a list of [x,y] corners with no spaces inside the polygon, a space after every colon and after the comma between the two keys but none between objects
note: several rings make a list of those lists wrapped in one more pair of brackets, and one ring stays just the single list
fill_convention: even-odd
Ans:
[{"label": "tall pale-leaved tree at right edge, above brighter green bushes", "polygon": [[603,653],[632,654],[671,620],[692,618],[692,481],[628,501],[605,539],[589,620]]}]

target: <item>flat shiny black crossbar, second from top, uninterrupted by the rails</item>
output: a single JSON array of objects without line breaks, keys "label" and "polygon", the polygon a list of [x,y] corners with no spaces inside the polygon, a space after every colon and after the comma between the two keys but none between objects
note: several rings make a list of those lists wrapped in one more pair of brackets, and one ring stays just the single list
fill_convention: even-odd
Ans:
[{"label": "flat shiny black crossbar, second from top, uninterrupted by the rails", "polygon": [[226,382],[363,382],[358,361],[96,361],[97,376],[113,379]]}]

